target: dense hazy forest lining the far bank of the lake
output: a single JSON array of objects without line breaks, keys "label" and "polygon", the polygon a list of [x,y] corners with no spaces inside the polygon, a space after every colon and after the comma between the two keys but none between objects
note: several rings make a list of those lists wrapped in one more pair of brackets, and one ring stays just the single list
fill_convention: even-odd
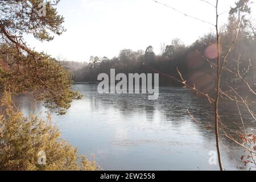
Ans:
[{"label": "dense hazy forest lining the far bank of the lake", "polygon": [[[221,56],[229,51],[229,45],[236,36],[236,26],[238,25],[238,16],[242,15],[240,34],[237,38],[235,47],[230,51],[225,63],[221,85],[232,86],[240,85],[240,79],[237,79],[237,69],[240,70],[243,77],[249,82],[255,82],[256,32],[253,20],[248,18],[250,9],[237,10],[231,8],[229,11],[228,23],[224,24],[220,32]],[[213,81],[217,57],[216,34],[209,32],[201,36],[191,45],[186,46],[180,39],[174,39],[171,44],[161,44],[161,53],[156,54],[152,46],[145,50],[133,51],[131,49],[122,49],[119,55],[109,59],[108,57],[91,56],[88,65],[77,69],[74,80],[76,82],[95,82],[100,73],[110,72],[110,68],[115,68],[116,73],[152,73],[151,68],[161,73],[179,78],[177,69],[189,85],[197,85],[197,88],[204,92],[210,92],[214,89]],[[239,59],[239,60],[238,60]],[[237,68],[236,62],[241,62]],[[150,68],[151,67],[151,68]],[[250,69],[250,72],[246,70]],[[160,85],[177,84],[170,78],[159,75]],[[242,86],[242,85],[240,85]]]}]

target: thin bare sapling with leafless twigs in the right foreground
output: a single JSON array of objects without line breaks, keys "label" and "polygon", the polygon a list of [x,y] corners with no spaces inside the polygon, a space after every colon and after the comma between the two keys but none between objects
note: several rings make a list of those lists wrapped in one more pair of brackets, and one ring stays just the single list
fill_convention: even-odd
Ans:
[{"label": "thin bare sapling with leafless twigs in the right foreground", "polygon": [[[247,63],[246,66],[244,65],[241,68],[241,59],[240,56],[238,57],[237,60],[233,59],[233,61],[236,63],[236,69],[230,69],[228,68],[227,63],[230,62],[230,54],[232,53],[232,51],[234,50],[234,48],[237,46],[238,43],[242,42],[243,40],[248,39],[248,38],[253,38],[255,39],[255,28],[253,26],[253,23],[251,23],[250,20],[246,19],[246,13],[250,14],[250,8],[248,6],[249,1],[248,0],[240,0],[236,3],[236,7],[232,8],[230,10],[230,14],[234,14],[236,13],[238,18],[235,18],[234,16],[232,16],[231,18],[234,18],[232,20],[234,20],[233,24],[232,24],[232,28],[228,28],[228,30],[226,30],[226,32],[221,32],[220,28],[219,28],[219,17],[220,15],[222,15],[223,13],[219,14],[218,13],[218,0],[216,0],[216,5],[212,5],[214,6],[214,9],[216,10],[216,23],[210,23],[207,22],[205,20],[201,20],[198,18],[195,18],[193,16],[190,16],[188,14],[185,14],[177,9],[174,9],[171,6],[168,6],[166,4],[160,3],[158,1],[155,1],[156,3],[162,4],[164,6],[167,6],[169,8],[171,8],[172,10],[177,11],[178,13],[183,14],[184,16],[188,16],[190,18],[193,19],[197,19],[200,20],[201,22],[205,22],[205,23],[209,23],[212,24],[215,27],[216,30],[216,49],[217,49],[217,57],[216,57],[216,63],[214,63],[214,61],[207,59],[207,57],[205,57],[204,55],[201,55],[209,64],[211,67],[213,67],[216,71],[216,75],[215,75],[215,80],[216,80],[216,84],[215,84],[215,92],[212,96],[210,96],[208,93],[202,92],[200,91],[200,89],[196,88],[196,85],[194,84],[193,86],[191,86],[190,84],[187,84],[187,80],[185,80],[183,78],[182,73],[179,71],[179,69],[177,68],[177,72],[179,73],[180,78],[175,78],[173,76],[170,76],[166,73],[162,73],[159,72],[158,70],[151,68],[153,71],[158,72],[164,76],[167,76],[177,82],[180,82],[181,84],[183,84],[185,87],[193,90],[194,92],[196,92],[197,94],[200,94],[201,96],[204,96],[205,98],[207,98],[210,102],[210,104],[213,104],[213,110],[214,110],[214,133],[215,133],[215,137],[216,137],[216,149],[217,149],[217,154],[218,154],[218,165],[220,167],[220,170],[223,170],[223,165],[222,165],[222,161],[221,161],[221,149],[220,149],[220,143],[224,145],[224,143],[221,140],[221,134],[220,131],[222,132],[222,136],[228,138],[229,140],[231,140],[232,142],[234,142],[235,144],[238,144],[239,146],[241,146],[243,149],[245,149],[245,152],[248,152],[248,155],[246,156],[246,160],[243,161],[243,164],[246,166],[247,163],[252,163],[256,166],[255,163],[255,153],[256,153],[256,137],[254,134],[248,134],[246,131],[246,127],[245,127],[245,122],[243,122],[243,117],[242,117],[242,113],[241,113],[241,109],[240,107],[243,107],[244,109],[246,109],[249,114],[251,115],[251,117],[254,119],[254,121],[256,121],[256,114],[254,113],[254,111],[251,109],[251,104],[255,104],[254,101],[249,101],[247,99],[247,96],[242,96],[240,93],[240,88],[233,88],[232,86],[229,86],[229,89],[226,89],[225,91],[222,90],[222,84],[221,81],[224,80],[223,78],[223,72],[229,72],[232,73],[235,77],[238,78],[238,80],[240,82],[243,83],[243,85],[245,85],[246,90],[249,90],[250,95],[255,96],[256,95],[256,90],[253,88],[253,86],[255,86],[255,78],[253,79],[253,81],[248,82],[246,81],[245,76],[249,75],[249,72],[253,71],[252,76],[255,77],[255,67],[251,64],[251,61],[249,59],[249,61]],[[207,2],[207,1],[204,1]],[[209,3],[209,2],[207,2]],[[250,29],[250,36],[244,36],[241,35],[242,34],[242,29],[246,30],[246,29]],[[223,48],[221,46],[221,41],[224,37],[224,35],[230,35],[231,36],[231,41],[229,42],[229,45],[226,46],[226,48]],[[200,52],[198,52],[200,53]],[[146,65],[147,66],[147,65]],[[148,67],[148,66],[147,66]],[[242,71],[241,71],[242,70]],[[252,86],[253,85],[253,86]],[[240,85],[238,85],[240,86]],[[243,89],[245,89],[243,88]],[[242,92],[244,92],[242,90]],[[220,98],[224,98],[226,100],[229,101],[233,101],[237,104],[237,109],[238,109],[238,113],[240,115],[241,118],[241,123],[242,123],[242,131],[240,130],[233,130],[233,129],[229,129],[224,121],[222,121],[222,117],[220,115]],[[197,119],[188,111],[189,115],[191,115],[192,119],[194,119],[197,123],[200,123],[199,121],[197,121]],[[235,139],[233,137],[233,135],[237,135],[238,137],[240,137],[240,141],[238,141],[237,139]],[[228,150],[228,148],[224,145],[224,147],[226,148],[226,150]],[[231,152],[228,150],[229,154],[231,154]],[[245,159],[245,155],[243,155],[241,157],[241,160]],[[234,161],[236,162],[236,159],[234,159]],[[237,162],[236,162],[237,164]],[[237,164],[238,166],[238,164]],[[239,166],[238,166],[239,167]]]}]

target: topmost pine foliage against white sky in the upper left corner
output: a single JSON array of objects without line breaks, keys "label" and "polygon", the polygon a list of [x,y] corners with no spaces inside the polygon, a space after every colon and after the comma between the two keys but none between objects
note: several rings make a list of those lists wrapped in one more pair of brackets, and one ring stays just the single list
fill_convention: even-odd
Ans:
[{"label": "topmost pine foliage against white sky in the upper left corner", "polygon": [[[57,14],[56,5],[60,0],[8,0],[0,1],[0,22],[12,35],[22,38],[32,34],[39,40],[52,40],[53,34],[60,35],[65,31],[61,25],[64,18]],[[38,13],[40,3],[46,5],[46,16]]]}]

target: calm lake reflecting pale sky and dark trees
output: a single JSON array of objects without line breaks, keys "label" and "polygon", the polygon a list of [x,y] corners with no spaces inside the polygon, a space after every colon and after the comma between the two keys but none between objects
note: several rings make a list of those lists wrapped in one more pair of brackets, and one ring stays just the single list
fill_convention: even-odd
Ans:
[{"label": "calm lake reflecting pale sky and dark trees", "polygon": [[[213,105],[182,87],[160,87],[158,100],[147,94],[99,94],[96,84],[73,85],[84,95],[72,102],[65,115],[53,114],[62,137],[77,147],[79,154],[94,155],[105,170],[218,170],[209,164],[209,152],[216,151],[214,132],[203,126],[213,124]],[[25,115],[44,111],[30,96],[15,97]],[[36,106],[36,107],[35,107]],[[187,109],[202,123],[196,123]],[[224,102],[221,115],[231,128],[240,122],[236,105]],[[246,111],[247,130],[255,133],[255,122]],[[44,117],[44,112],[42,113]],[[240,162],[242,148],[222,138]],[[237,169],[232,156],[222,147],[225,169]]]}]

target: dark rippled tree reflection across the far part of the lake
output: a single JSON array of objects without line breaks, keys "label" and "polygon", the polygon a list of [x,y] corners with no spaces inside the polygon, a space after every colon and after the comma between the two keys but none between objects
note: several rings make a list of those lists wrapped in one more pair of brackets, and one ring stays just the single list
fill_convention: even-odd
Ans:
[{"label": "dark rippled tree reflection across the far part of the lake", "polygon": [[[192,126],[193,131],[199,133],[208,143],[214,143],[214,131],[205,130],[204,127],[197,124],[191,119],[187,113],[187,109],[192,115],[198,119],[201,124],[208,126],[210,123],[213,125],[213,105],[209,105],[208,100],[198,96],[188,89],[181,87],[169,88],[162,87],[159,89],[158,100],[148,100],[147,94],[98,94],[97,84],[78,85],[75,88],[81,93],[84,93],[84,98],[81,100],[81,104],[86,104],[93,110],[109,110],[117,111],[126,120],[129,118],[134,119],[134,115],[146,119],[147,123],[158,122],[161,127],[166,127],[166,132],[170,128],[182,128]],[[34,102],[29,96],[20,96],[15,98],[21,105],[21,109],[26,114],[35,113]],[[36,103],[36,111],[43,111],[44,107],[42,102]],[[247,110],[242,109],[242,115],[245,120],[247,129],[254,127],[255,123],[251,122],[252,119],[247,113]],[[106,114],[108,111],[106,111]],[[240,116],[237,114],[236,103],[230,104],[230,102],[221,101],[220,115],[222,122],[232,130],[240,129],[240,125],[235,125],[233,122],[241,123]],[[140,121],[138,121],[140,122]],[[188,125],[188,122],[192,124]],[[236,136],[234,136],[236,137]],[[236,146],[232,141],[222,137],[226,146],[234,152],[234,157],[240,159],[241,147]]]}]

